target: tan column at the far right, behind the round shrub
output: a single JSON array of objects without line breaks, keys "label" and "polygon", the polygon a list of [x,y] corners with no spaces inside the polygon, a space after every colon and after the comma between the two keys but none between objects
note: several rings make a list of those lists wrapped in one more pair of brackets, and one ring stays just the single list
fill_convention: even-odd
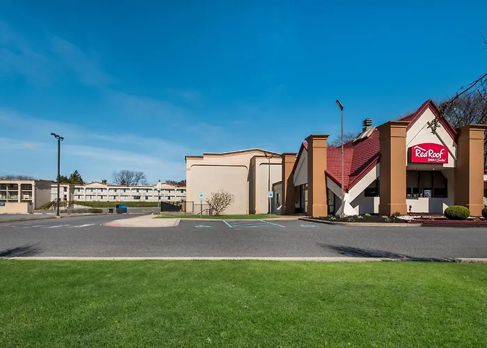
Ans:
[{"label": "tan column at the far right, behind the round shrub", "polygon": [[481,216],[484,209],[484,131],[486,125],[466,125],[459,129],[455,166],[455,205]]}]

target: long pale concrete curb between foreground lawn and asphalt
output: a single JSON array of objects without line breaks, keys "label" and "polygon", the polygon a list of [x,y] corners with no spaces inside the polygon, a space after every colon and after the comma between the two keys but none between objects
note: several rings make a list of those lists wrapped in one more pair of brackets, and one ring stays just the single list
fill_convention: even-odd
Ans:
[{"label": "long pale concrete curb between foreground lawn and asphalt", "polygon": [[[191,257],[191,256],[141,256],[141,257],[82,257],[82,256],[19,256],[17,258],[0,258],[0,260],[37,260],[37,261],[143,261],[143,260],[159,260],[159,261],[291,261],[291,262],[417,262],[415,260],[397,260],[393,258],[350,258],[342,256],[330,257],[225,257],[225,256],[208,256],[208,257]],[[456,258],[449,262],[457,263],[487,263],[487,258]]]}]

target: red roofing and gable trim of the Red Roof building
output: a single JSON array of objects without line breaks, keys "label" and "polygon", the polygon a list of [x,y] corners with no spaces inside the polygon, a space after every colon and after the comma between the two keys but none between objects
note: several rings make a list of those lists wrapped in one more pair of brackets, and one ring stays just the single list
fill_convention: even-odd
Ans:
[{"label": "red roofing and gable trim of the Red Roof building", "polygon": [[[426,109],[431,111],[440,119],[441,125],[445,128],[453,139],[456,139],[456,131],[452,125],[441,116],[440,111],[431,100],[427,100],[420,106],[417,111],[410,115],[401,118],[401,121],[410,122],[408,129],[416,122],[422,113]],[[298,163],[299,157],[303,150],[308,150],[308,143],[303,143],[296,159]],[[369,171],[376,166],[379,162],[381,152],[381,145],[379,141],[378,129],[374,129],[372,134],[367,138],[360,141],[350,141],[344,144],[344,188],[348,191],[355,186]],[[328,148],[327,151],[327,163],[326,163],[326,175],[330,177],[337,185],[341,186],[342,177],[342,149],[341,148]],[[296,169],[296,164],[293,171]],[[487,171],[485,172],[487,173]]]}]

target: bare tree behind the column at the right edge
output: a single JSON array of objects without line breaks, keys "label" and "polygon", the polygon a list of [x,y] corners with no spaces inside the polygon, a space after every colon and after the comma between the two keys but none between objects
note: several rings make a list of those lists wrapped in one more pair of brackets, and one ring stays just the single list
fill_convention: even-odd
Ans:
[{"label": "bare tree behind the column at the right edge", "polygon": [[[457,93],[440,102],[438,108],[454,128],[487,125],[487,84],[476,86],[472,93]],[[484,168],[487,169],[487,134],[484,136]]]}]

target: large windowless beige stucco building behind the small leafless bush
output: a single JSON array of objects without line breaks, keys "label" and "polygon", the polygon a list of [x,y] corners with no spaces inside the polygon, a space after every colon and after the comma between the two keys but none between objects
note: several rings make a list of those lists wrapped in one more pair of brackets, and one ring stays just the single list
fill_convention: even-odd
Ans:
[{"label": "large windowless beige stucco building behind the small leafless bush", "polygon": [[281,179],[281,157],[260,149],[186,156],[186,199],[198,205],[211,193],[226,190],[234,203],[225,214],[269,212],[269,189]]}]

